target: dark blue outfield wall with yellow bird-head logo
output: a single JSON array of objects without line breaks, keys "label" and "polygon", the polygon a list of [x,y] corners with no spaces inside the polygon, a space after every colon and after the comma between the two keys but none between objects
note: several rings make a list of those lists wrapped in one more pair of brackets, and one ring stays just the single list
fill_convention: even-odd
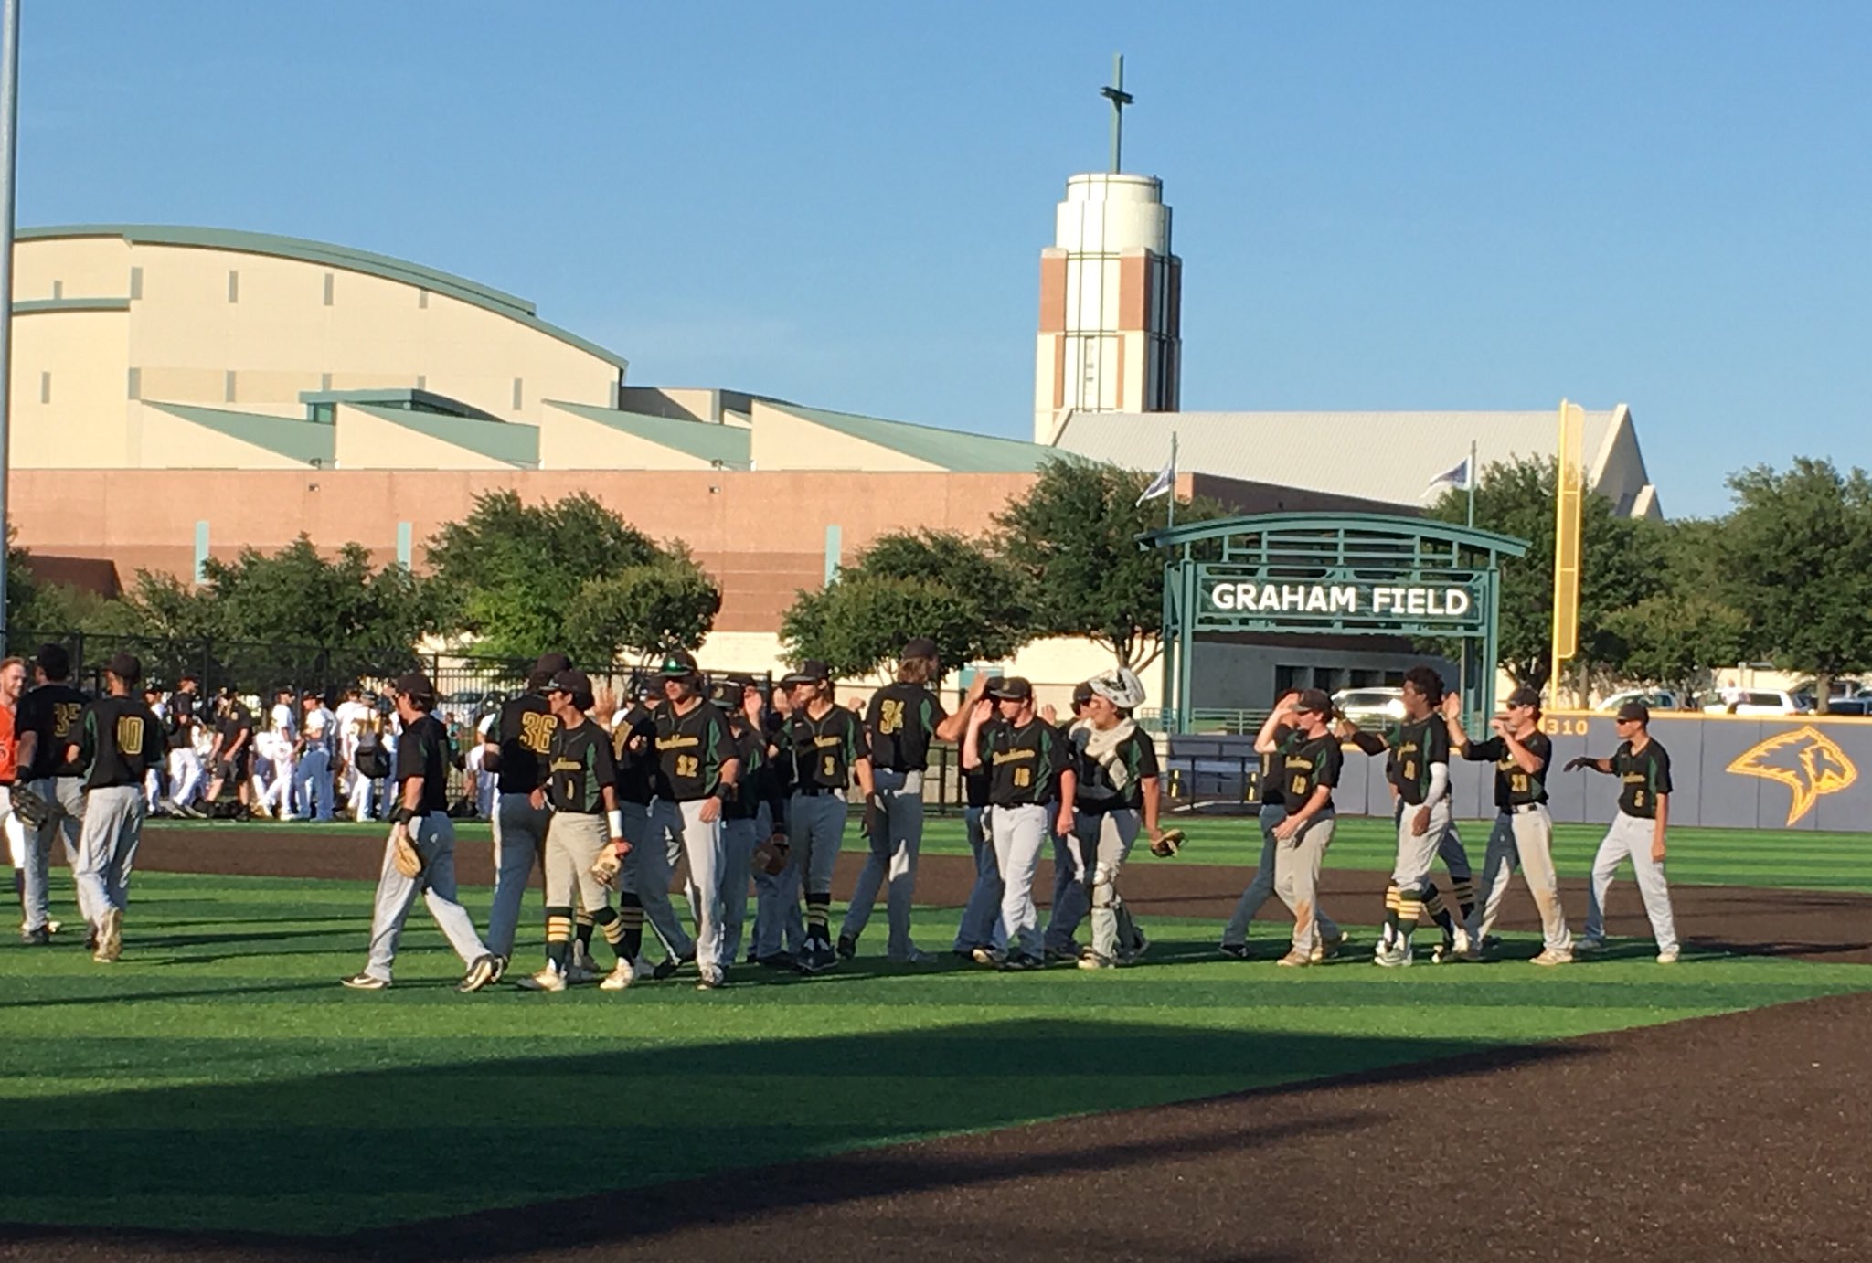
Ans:
[{"label": "dark blue outfield wall with yellow bird-head logo", "polygon": [[[1548,799],[1556,821],[1606,823],[1617,810],[1619,784],[1589,771],[1565,773],[1567,760],[1608,756],[1617,748],[1610,715],[1544,717],[1556,771]],[[1670,820],[1726,829],[1816,829],[1872,833],[1872,720],[1748,719],[1730,715],[1657,715],[1651,735],[1670,750]],[[1226,797],[1234,786],[1224,767],[1254,765],[1252,737],[1177,735],[1170,767],[1191,775],[1202,797]],[[1458,820],[1494,816],[1494,773],[1488,763],[1456,760]],[[1385,816],[1391,791],[1385,760],[1346,750],[1346,773],[1335,795],[1342,814]]]}]

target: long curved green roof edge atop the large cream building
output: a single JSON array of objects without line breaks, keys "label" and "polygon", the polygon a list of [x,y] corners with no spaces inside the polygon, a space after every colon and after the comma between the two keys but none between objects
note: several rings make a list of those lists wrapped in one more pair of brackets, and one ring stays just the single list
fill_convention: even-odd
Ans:
[{"label": "long curved green roof edge atop the large cream building", "polygon": [[21,228],[17,236],[21,241],[124,238],[133,245],[182,245],[208,251],[241,251],[247,254],[271,254],[277,258],[296,258],[307,264],[324,264],[328,268],[344,268],[346,271],[361,271],[365,275],[384,277],[386,281],[399,281],[434,294],[447,294],[449,298],[474,303],[475,307],[492,311],[500,316],[507,316],[509,320],[519,320],[520,324],[548,337],[556,337],[569,346],[577,346],[578,350],[595,356],[620,370],[629,367],[629,361],[623,356],[605,350],[597,342],[590,342],[554,324],[547,324],[524,298],[505,294],[487,284],[477,284],[466,277],[457,277],[447,271],[423,268],[421,264],[412,264],[404,258],[356,251],[348,245],[311,241],[307,238],[281,238],[271,232],[191,228],[178,225],[51,225],[43,228]]}]

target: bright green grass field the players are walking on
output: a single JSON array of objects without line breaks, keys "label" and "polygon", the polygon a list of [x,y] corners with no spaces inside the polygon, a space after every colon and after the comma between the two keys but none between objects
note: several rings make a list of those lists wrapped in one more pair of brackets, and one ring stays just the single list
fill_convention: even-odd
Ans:
[{"label": "bright green grass field the players are walking on", "polygon": [[[1346,823],[1329,863],[1385,866],[1383,827]],[[1252,857],[1243,821],[1191,835],[1194,861]],[[1591,840],[1567,831],[1567,872]],[[1859,846],[1683,831],[1674,879],[1865,889]],[[960,827],[936,823],[930,849],[960,849]],[[54,898],[69,909],[69,885]],[[470,907],[485,922],[487,893]],[[953,917],[919,913],[925,947]],[[715,994],[464,997],[417,913],[397,988],[346,992],[367,919],[363,883],[139,874],[116,965],[7,936],[0,1222],[339,1233],[1872,990],[1863,965],[1664,969],[1649,943],[1561,971],[1284,971],[1217,958],[1213,922],[1151,919],[1146,964],[1106,975],[859,958],[812,980],[739,969]],[[110,1198],[24,1160],[75,1149],[107,1154]]]}]

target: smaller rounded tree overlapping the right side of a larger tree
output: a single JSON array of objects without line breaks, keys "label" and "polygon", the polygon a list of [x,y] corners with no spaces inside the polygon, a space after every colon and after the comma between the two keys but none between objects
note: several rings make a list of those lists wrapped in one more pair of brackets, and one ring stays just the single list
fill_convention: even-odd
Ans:
[{"label": "smaller rounded tree overlapping the right side of a larger tree", "polygon": [[721,588],[687,548],[588,580],[565,614],[565,651],[580,662],[698,649],[721,614]]}]

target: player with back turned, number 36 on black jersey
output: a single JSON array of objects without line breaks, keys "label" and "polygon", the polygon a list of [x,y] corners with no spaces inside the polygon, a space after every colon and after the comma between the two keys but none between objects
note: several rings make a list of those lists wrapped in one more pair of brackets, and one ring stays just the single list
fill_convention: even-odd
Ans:
[{"label": "player with back turned, number 36 on black jersey", "polygon": [[547,780],[547,752],[560,726],[558,713],[547,702],[547,687],[569,668],[563,653],[539,655],[526,675],[526,690],[502,702],[496,724],[481,735],[481,765],[492,769],[500,784],[487,949],[500,956],[502,971],[513,958],[513,936],[520,924],[526,883],[534,879],[534,861],[547,846],[547,806],[535,797],[535,790]]}]

